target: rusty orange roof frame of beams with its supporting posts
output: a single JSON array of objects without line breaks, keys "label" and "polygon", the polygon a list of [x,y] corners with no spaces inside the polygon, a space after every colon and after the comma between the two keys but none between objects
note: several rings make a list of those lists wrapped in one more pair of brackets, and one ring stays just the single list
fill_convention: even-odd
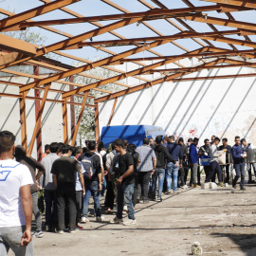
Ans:
[{"label": "rusty orange roof frame of beams with its supporting posts", "polygon": [[[77,13],[71,9],[67,9],[66,6],[70,4],[75,4],[79,2],[79,0],[40,0],[44,3],[43,6],[40,6],[35,9],[28,9],[19,14],[11,13],[8,10],[0,9],[1,13],[8,15],[8,18],[5,18],[0,21],[0,30],[1,31],[12,31],[24,29],[26,27],[42,27],[48,31],[54,32],[56,34],[64,35],[67,39],[52,44],[50,46],[35,46],[23,41],[19,41],[17,39],[9,38],[6,35],[0,35],[0,70],[2,72],[6,72],[11,76],[18,77],[27,77],[32,78],[35,81],[27,84],[9,82],[1,80],[0,83],[8,84],[8,86],[18,86],[20,94],[8,94],[8,93],[0,93],[0,96],[18,98],[20,101],[20,122],[21,122],[21,137],[22,144],[25,146],[27,150],[27,119],[26,119],[26,100],[32,101],[42,101],[40,104],[40,109],[36,118],[36,125],[34,127],[34,132],[32,135],[32,140],[30,142],[30,147],[28,149],[28,154],[32,153],[33,144],[35,141],[35,137],[37,137],[38,127],[40,126],[42,113],[44,110],[44,106],[46,101],[58,102],[63,105],[63,125],[64,125],[64,142],[68,143],[68,117],[67,117],[67,104],[71,105],[81,105],[81,112],[79,119],[77,120],[77,124],[74,130],[74,134],[72,135],[72,145],[75,145],[76,137],[79,130],[79,125],[82,119],[82,111],[85,106],[94,107],[95,108],[95,119],[96,119],[96,138],[100,139],[100,130],[99,130],[99,105],[98,103],[101,101],[108,101],[110,99],[114,99],[114,104],[112,111],[110,113],[110,118],[108,125],[110,125],[111,120],[113,118],[115,108],[117,105],[118,97],[129,94],[132,92],[136,92],[138,90],[143,90],[144,88],[153,86],[160,82],[177,82],[177,81],[190,81],[190,80],[207,80],[207,79],[225,79],[225,78],[240,78],[240,77],[251,77],[256,76],[254,73],[243,74],[243,75],[226,75],[226,76],[216,76],[216,77],[197,77],[197,78],[184,78],[183,76],[186,74],[190,74],[192,72],[197,72],[198,70],[203,70],[205,68],[221,68],[221,67],[237,67],[237,66],[255,66],[255,63],[248,61],[248,58],[255,60],[256,59],[256,42],[253,42],[248,36],[256,34],[256,24],[247,23],[243,21],[237,21],[233,18],[230,12],[232,11],[247,11],[251,9],[256,9],[255,1],[252,0],[205,0],[206,2],[215,3],[216,5],[211,6],[200,6],[195,7],[192,5],[190,0],[180,0],[183,1],[188,8],[184,9],[168,9],[160,0],[152,0],[155,5],[159,9],[155,9],[152,5],[150,5],[147,0],[138,0],[142,5],[147,7],[149,10],[142,12],[131,12],[127,9],[123,9],[118,4],[112,2],[111,0],[101,0],[102,3],[105,3],[111,6],[114,9],[119,9],[121,14],[110,14],[110,15],[102,15],[102,16],[92,16],[92,17],[84,17],[82,14]],[[34,22],[31,18],[46,13],[48,11],[60,9],[74,18],[65,19],[65,20],[46,20],[40,22]],[[204,11],[217,10],[218,12],[224,12],[229,19],[223,19],[219,17],[211,17],[210,15],[204,13]],[[172,19],[171,19],[172,18]],[[113,22],[107,26],[102,26],[99,21],[104,20],[117,20],[117,22]],[[180,33],[173,35],[163,35],[160,31],[155,29],[155,27],[150,25],[151,20],[164,19],[171,27],[175,27],[179,29]],[[205,33],[198,33],[191,25],[187,23],[188,21],[195,21],[200,23],[207,24],[213,31],[206,31]],[[65,31],[61,31],[54,27],[50,27],[52,25],[58,25],[62,23],[66,24],[74,24],[81,22],[88,22],[98,28],[93,29],[91,31],[82,32],[80,35],[73,36]],[[115,29],[123,26],[129,26],[131,24],[137,23],[142,26],[148,27],[151,29],[156,36],[151,38],[130,38],[126,39],[119,33],[115,31]],[[183,27],[186,27],[188,30],[185,30]],[[214,25],[217,26],[225,26],[235,28],[234,30],[226,30],[220,31]],[[236,30],[237,29],[237,30]],[[117,40],[108,40],[108,41],[98,41],[98,42],[90,42],[86,41],[96,35],[101,35],[104,33],[111,33]],[[238,34],[244,37],[242,39],[234,39],[227,37],[227,35]],[[191,38],[200,48],[197,50],[188,50],[186,47],[182,46],[175,42],[177,39]],[[2,39],[2,40],[1,40]],[[214,46],[214,42],[221,42],[228,44],[232,47],[233,50],[229,50],[228,48],[219,48]],[[181,55],[162,55],[152,48],[155,46],[162,46],[166,43],[173,44],[174,46],[179,47],[184,50],[185,53]],[[106,49],[105,46],[127,46],[134,45],[136,46],[134,49],[123,51],[119,54]],[[63,49],[72,49],[72,48],[80,48],[83,46],[93,46],[101,51],[104,51],[111,55],[111,57],[105,58],[103,60],[97,62],[90,62],[86,59],[82,59],[80,57],[72,56],[65,52],[62,52]],[[247,46],[251,47],[251,50],[238,50],[236,46]],[[128,59],[131,55],[136,54],[138,52],[150,52],[155,55],[155,57],[145,57],[145,58],[134,58]],[[81,61],[84,63],[79,67],[65,68],[61,64],[51,64],[51,61],[38,61],[37,58],[45,55],[47,52],[54,52],[55,54],[62,55],[64,57]],[[230,57],[240,57],[240,59],[230,59]],[[179,63],[179,60],[185,58],[197,58],[201,63],[197,66],[184,66]],[[214,61],[207,63],[207,59],[215,58]],[[158,63],[145,63],[148,61],[157,61]],[[134,63],[139,64],[140,67],[131,70],[129,72],[124,72],[123,70],[119,70],[115,65],[123,64],[123,63]],[[13,70],[7,69],[9,66],[17,65],[17,64],[32,64],[37,66],[44,66],[50,70],[54,70],[57,74],[49,75],[48,77],[39,76],[39,74],[26,74],[23,72],[17,72]],[[168,68],[164,67],[165,64],[174,64],[178,68]],[[222,65],[218,65],[222,64]],[[106,68],[108,70],[112,70],[118,72],[119,75],[114,76],[112,78],[104,79],[100,77],[92,76],[88,73],[83,73],[84,71],[88,71],[95,67]],[[164,77],[160,77],[155,80],[149,80],[142,75],[152,74],[154,72],[160,72]],[[174,74],[170,74],[173,72]],[[79,84],[69,80],[63,81],[64,78],[79,75],[83,77],[91,77],[93,79],[98,80],[98,82],[93,82],[91,84]],[[138,85],[130,85],[121,82],[125,78],[135,78],[137,81],[140,81]],[[142,81],[142,83],[141,83]],[[69,89],[67,91],[52,89],[48,83],[57,82],[60,84],[68,84]],[[115,83],[119,85],[119,91],[112,92],[107,88],[108,83]],[[101,86],[104,85],[104,88]],[[121,89],[125,87],[126,89]],[[30,89],[34,89],[39,91],[45,91],[44,97],[40,98],[39,94],[36,94],[35,97],[27,96],[27,93]],[[104,96],[95,99],[90,95],[91,90],[98,90],[101,93],[105,94]],[[47,98],[48,92],[61,93],[63,99],[60,100],[52,100]],[[84,93],[84,94],[83,94]],[[82,97],[82,103],[78,103],[73,101],[72,99],[69,101],[70,97]],[[94,104],[86,104],[86,99],[93,99]]]}]

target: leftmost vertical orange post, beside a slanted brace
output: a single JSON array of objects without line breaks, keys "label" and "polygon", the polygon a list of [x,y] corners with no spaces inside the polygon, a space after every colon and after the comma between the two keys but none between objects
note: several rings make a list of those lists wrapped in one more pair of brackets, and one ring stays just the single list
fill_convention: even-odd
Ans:
[{"label": "leftmost vertical orange post, beside a slanted brace", "polygon": [[20,92],[20,123],[21,123],[21,140],[27,153],[27,117],[26,117],[26,96],[28,91]]}]

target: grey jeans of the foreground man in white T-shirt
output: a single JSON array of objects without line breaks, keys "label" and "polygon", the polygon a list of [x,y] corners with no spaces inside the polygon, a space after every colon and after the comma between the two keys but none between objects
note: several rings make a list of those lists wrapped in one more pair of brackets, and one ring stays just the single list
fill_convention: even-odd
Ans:
[{"label": "grey jeans of the foreground man in white T-shirt", "polygon": [[33,256],[34,247],[31,241],[27,247],[21,246],[23,227],[0,228],[0,255],[7,256],[9,248],[13,250],[15,256]]}]

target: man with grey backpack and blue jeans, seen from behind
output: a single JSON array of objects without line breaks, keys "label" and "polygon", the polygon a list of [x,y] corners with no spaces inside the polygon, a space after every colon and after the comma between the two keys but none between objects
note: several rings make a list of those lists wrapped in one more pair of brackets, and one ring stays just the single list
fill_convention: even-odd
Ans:
[{"label": "man with grey backpack and blue jeans, seen from behind", "polygon": [[[96,221],[101,222],[104,218],[101,216],[101,206],[100,206],[100,199],[101,199],[101,189],[102,189],[102,173],[101,173],[101,157],[96,154],[96,142],[91,140],[88,144],[89,152],[86,152],[82,155],[82,165],[85,170],[85,173],[88,172],[88,168],[91,162],[92,176],[90,179],[84,176],[84,186],[85,186],[85,196],[83,199],[83,208],[82,208],[82,221],[83,223],[89,222],[87,215],[88,215],[88,208],[91,195],[93,196],[94,200],[94,211],[96,214]],[[90,161],[90,162],[88,162]]]}]

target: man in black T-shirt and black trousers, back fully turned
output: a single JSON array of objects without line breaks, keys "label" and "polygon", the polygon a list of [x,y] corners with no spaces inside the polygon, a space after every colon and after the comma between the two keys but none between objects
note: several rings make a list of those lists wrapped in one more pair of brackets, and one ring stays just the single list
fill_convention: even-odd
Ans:
[{"label": "man in black T-shirt and black trousers, back fully turned", "polygon": [[[56,186],[56,197],[58,205],[58,226],[59,234],[64,233],[64,208],[69,213],[69,231],[74,232],[76,229],[76,175],[82,173],[81,164],[71,158],[71,147],[64,145],[63,156],[54,161],[51,174]],[[80,179],[83,176],[81,174]]]}]

